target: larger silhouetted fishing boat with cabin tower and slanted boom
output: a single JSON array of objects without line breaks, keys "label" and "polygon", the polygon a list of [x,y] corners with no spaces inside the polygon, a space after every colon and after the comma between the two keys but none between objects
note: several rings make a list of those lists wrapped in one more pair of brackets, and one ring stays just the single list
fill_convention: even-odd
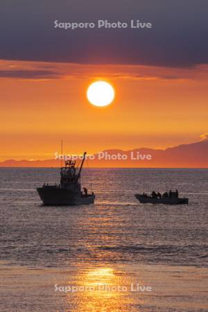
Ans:
[{"label": "larger silhouetted fishing boat with cabin tower and slanted boom", "polygon": [[67,160],[60,168],[60,184],[44,184],[37,192],[44,206],[88,205],[93,204],[95,195],[88,193],[84,187],[81,191],[81,172],[85,162],[83,155],[80,168],[76,168],[76,160]]}]

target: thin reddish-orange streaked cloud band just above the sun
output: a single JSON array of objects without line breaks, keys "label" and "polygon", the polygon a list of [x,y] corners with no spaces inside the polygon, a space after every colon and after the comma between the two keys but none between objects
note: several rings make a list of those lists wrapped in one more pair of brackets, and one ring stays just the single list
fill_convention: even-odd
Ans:
[{"label": "thin reddish-orange streaked cloud band just above the sun", "polygon": [[97,65],[60,62],[0,60],[0,78],[26,80],[112,79],[112,80],[208,80],[208,65],[187,68],[150,67],[141,65]]}]

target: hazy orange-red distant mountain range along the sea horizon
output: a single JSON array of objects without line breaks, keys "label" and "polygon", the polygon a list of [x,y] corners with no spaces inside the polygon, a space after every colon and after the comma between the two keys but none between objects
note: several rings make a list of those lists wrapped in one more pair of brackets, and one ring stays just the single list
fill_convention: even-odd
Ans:
[{"label": "hazy orange-red distant mountain range along the sea horizon", "polygon": [[[89,160],[90,167],[100,168],[208,168],[208,140],[183,144],[166,150],[104,150]],[[107,159],[104,159],[104,155]],[[111,158],[111,159],[109,159]],[[60,159],[15,160],[0,162],[0,167],[60,167]]]}]

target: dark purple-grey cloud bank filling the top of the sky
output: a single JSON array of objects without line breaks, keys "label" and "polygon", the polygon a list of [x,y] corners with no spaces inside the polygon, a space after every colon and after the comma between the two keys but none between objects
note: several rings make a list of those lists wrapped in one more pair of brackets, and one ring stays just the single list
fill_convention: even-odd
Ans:
[{"label": "dark purple-grey cloud bank filling the top of the sky", "polygon": [[[78,64],[192,67],[208,63],[207,0],[0,1],[0,58]],[[54,21],[130,19],[153,28],[80,28]]]}]

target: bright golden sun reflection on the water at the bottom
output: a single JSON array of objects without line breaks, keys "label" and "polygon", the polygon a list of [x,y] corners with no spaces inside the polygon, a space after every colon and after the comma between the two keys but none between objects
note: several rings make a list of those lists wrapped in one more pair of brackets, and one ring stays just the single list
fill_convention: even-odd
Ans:
[{"label": "bright golden sun reflection on the water at the bottom", "polygon": [[[78,270],[74,286],[81,291],[67,293],[67,305],[76,302],[70,311],[128,311],[134,297],[130,291],[130,277],[122,270],[110,267],[83,268]],[[143,300],[139,300],[142,304]],[[137,298],[138,304],[138,298]],[[139,310],[137,310],[139,311]]]}]

